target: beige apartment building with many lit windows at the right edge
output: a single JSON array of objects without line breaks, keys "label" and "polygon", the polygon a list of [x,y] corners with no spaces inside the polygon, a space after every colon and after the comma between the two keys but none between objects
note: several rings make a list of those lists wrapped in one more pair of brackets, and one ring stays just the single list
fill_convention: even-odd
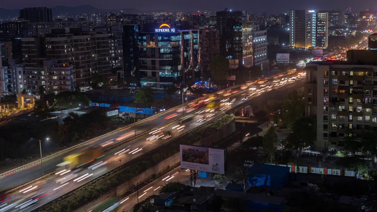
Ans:
[{"label": "beige apartment building with many lit windows at the right edge", "polygon": [[347,61],[310,62],[305,70],[305,112],[317,117],[317,151],[342,149],[348,129],[377,129],[377,52],[347,51]]}]

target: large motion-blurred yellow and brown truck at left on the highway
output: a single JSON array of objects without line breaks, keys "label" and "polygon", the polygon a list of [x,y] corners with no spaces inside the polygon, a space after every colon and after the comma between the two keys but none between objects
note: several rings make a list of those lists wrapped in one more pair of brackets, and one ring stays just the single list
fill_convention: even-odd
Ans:
[{"label": "large motion-blurred yellow and brown truck at left on the highway", "polygon": [[63,158],[63,163],[57,164],[57,170],[73,170],[81,166],[92,163],[95,159],[102,156],[101,148],[99,146],[92,146],[68,155]]}]

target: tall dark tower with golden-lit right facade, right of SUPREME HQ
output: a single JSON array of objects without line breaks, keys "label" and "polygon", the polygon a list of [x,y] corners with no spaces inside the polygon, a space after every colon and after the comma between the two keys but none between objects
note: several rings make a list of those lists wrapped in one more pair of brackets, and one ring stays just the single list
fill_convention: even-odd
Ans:
[{"label": "tall dark tower with golden-lit right facade, right of SUPREME HQ", "polygon": [[229,68],[253,66],[253,24],[246,22],[245,11],[216,12],[222,56],[229,59]]}]

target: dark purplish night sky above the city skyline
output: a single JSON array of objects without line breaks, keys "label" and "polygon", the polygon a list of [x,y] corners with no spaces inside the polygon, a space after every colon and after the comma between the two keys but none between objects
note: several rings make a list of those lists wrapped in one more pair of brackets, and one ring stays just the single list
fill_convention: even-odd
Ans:
[{"label": "dark purplish night sky above the city skyline", "polygon": [[198,10],[220,11],[224,8],[247,12],[288,12],[289,9],[376,9],[377,0],[2,0],[0,7],[21,9],[23,7],[92,5],[100,9],[134,8],[140,11],[160,9],[169,12],[196,12]]}]

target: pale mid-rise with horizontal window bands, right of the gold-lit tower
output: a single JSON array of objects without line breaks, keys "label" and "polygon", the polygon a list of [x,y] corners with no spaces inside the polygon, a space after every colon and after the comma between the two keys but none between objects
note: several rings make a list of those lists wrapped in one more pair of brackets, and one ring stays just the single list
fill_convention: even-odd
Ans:
[{"label": "pale mid-rise with horizontal window bands, right of the gold-lit tower", "polygon": [[267,31],[253,31],[254,66],[258,66],[262,70],[268,67],[267,45]]}]

